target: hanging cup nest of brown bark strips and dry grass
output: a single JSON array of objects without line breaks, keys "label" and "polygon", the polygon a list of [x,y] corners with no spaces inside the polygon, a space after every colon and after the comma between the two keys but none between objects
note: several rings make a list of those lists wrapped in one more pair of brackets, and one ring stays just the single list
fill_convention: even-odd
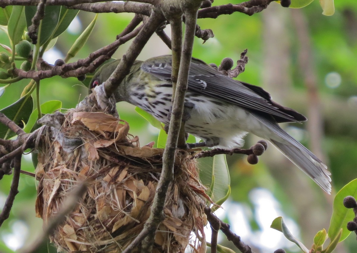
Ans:
[{"label": "hanging cup nest of brown bark strips and dry grass", "polygon": [[[150,216],[163,149],[140,147],[129,125],[102,112],[47,115],[38,153],[36,214],[44,226],[72,188],[86,181],[78,206],[50,237],[60,252],[121,252]],[[54,123],[55,122],[55,123]],[[190,153],[177,152],[166,218],[152,252],[205,252],[207,195]],[[200,239],[197,239],[200,238]],[[140,251],[140,246],[136,252]]]}]

